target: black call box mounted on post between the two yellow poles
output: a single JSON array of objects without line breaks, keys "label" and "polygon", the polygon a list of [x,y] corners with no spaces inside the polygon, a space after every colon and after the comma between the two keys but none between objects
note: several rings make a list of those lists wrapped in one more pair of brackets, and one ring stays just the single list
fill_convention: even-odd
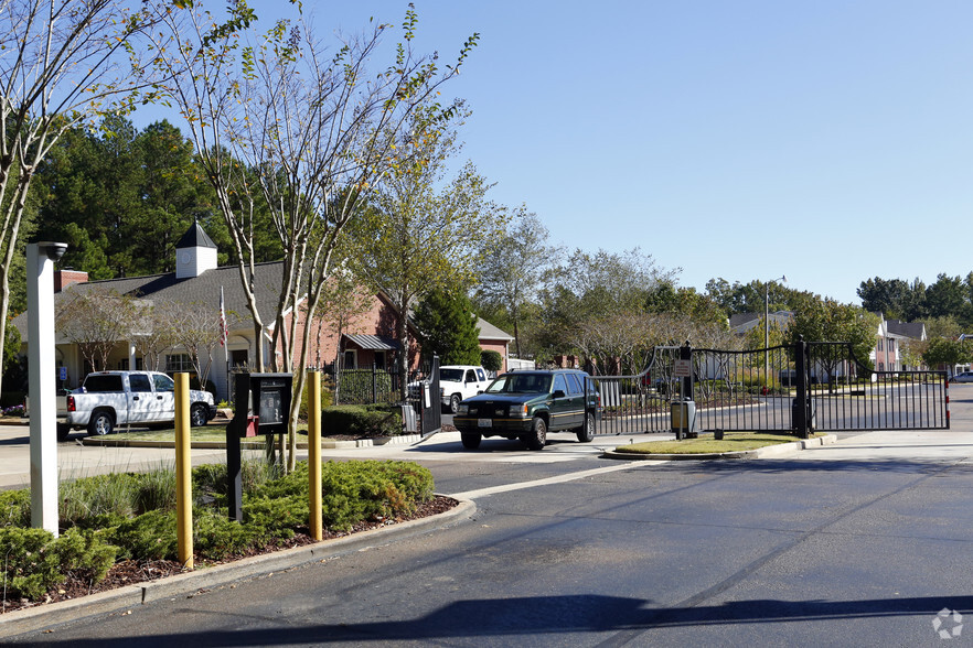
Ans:
[{"label": "black call box mounted on post between the two yellow poles", "polygon": [[239,438],[285,434],[292,388],[292,374],[239,374],[229,426]]}]

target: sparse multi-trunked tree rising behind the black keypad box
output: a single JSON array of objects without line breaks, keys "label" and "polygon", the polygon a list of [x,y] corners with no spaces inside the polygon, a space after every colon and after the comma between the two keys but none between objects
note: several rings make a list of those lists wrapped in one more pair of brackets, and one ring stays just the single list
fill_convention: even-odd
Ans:
[{"label": "sparse multi-trunked tree rising behind the black keypad box", "polygon": [[[339,237],[359,213],[357,204],[392,168],[395,136],[415,107],[457,74],[475,44],[438,68],[436,55],[411,47],[418,18],[410,7],[395,60],[378,74],[365,65],[377,54],[389,25],[344,39],[328,56],[302,20],[277,22],[264,34],[249,31],[256,15],[244,0],[214,21],[201,3],[172,12],[167,37],[178,46],[160,56],[173,82],[168,95],[185,118],[201,163],[213,185],[233,238],[239,279],[247,295],[256,339],[265,320],[257,303],[253,215],[259,199],[270,208],[285,252],[285,272],[274,311],[274,343],[285,371],[303,393],[312,326],[298,337],[298,303],[313,320]],[[246,41],[249,39],[249,41]],[[436,119],[448,120],[452,106]],[[265,311],[266,312],[266,311]],[[258,367],[266,366],[261,345]],[[295,360],[297,358],[297,361]],[[288,431],[288,467],[295,465],[295,398]]]}]

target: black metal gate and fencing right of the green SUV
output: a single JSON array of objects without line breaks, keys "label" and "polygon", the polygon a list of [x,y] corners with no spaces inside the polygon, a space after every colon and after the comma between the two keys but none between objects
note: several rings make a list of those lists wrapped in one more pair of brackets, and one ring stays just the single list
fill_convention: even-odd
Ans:
[{"label": "black metal gate and fencing right of the green SUV", "polygon": [[[676,377],[680,357],[692,370]],[[683,366],[684,374],[686,367]],[[656,347],[638,376],[598,376],[599,434],[671,432],[671,407],[692,400],[693,430],[942,430],[950,426],[944,371],[875,371],[847,343],[755,350]]]}]

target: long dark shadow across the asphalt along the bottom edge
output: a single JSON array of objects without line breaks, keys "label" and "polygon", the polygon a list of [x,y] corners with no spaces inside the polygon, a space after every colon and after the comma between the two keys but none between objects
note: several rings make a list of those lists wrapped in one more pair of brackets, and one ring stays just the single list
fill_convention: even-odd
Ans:
[{"label": "long dark shadow across the asphalt along the bottom edge", "polygon": [[[928,616],[948,608],[973,611],[973,596],[874,598],[867,601],[751,600],[712,606],[653,609],[651,602],[614,596],[539,596],[460,601],[425,617],[372,623],[319,624],[232,631],[189,631],[116,639],[19,642],[19,646],[287,646],[335,641],[432,641],[437,639],[532,636],[564,633],[622,633],[629,640],[652,629],[731,624]],[[226,613],[227,618],[234,615]],[[277,624],[278,620],[268,620]]]}]

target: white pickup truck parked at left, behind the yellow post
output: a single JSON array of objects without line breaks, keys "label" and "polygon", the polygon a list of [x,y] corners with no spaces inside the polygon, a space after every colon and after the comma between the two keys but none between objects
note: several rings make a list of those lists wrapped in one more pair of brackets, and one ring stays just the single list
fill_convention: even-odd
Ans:
[{"label": "white pickup truck parked at left, behind the yellow post", "polygon": [[[62,406],[63,399],[63,406]],[[175,420],[175,382],[158,371],[97,371],[57,399],[57,440],[74,428],[109,434],[116,425],[152,425]],[[190,390],[190,421],[205,425],[216,415],[209,391]]]}]

